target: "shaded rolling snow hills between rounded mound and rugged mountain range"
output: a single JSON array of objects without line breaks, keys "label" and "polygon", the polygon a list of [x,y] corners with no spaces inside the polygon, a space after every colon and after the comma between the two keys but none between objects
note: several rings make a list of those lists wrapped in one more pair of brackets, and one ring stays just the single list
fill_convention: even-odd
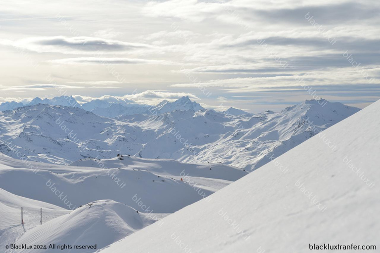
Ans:
[{"label": "shaded rolling snow hills between rounded mound and rugged mountain range", "polygon": [[[130,165],[127,159],[131,160]],[[225,165],[131,157],[125,157],[125,160],[125,166],[114,169],[107,168],[99,160],[93,161],[96,164],[93,168],[49,167],[38,163],[33,169],[0,167],[0,186],[13,194],[70,210],[92,201],[112,199],[142,211],[136,201],[141,198],[154,212],[172,213],[247,174],[242,169]],[[9,158],[3,158],[3,161],[11,165]],[[116,161],[117,158],[112,163]],[[187,176],[183,181],[180,180],[182,174]],[[19,183],[15,184],[15,180]]]}]

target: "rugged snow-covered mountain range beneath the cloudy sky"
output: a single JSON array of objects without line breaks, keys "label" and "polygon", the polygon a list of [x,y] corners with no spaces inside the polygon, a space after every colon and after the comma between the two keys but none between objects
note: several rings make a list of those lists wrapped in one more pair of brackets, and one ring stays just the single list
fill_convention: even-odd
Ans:
[{"label": "rugged snow-covered mountain range beneath the cloudy sky", "polygon": [[[94,110],[104,110],[99,113],[103,115],[114,113],[115,118],[79,107],[39,103],[0,112],[0,152],[25,162],[63,165],[124,154],[223,163],[252,171],[314,135],[329,143],[319,133],[359,111],[340,103],[325,103],[322,107],[316,100],[306,100],[279,113],[251,115],[231,108],[225,112],[206,110],[183,97],[148,110],[133,108],[133,115],[120,116],[123,108],[131,107],[118,104]],[[113,107],[123,108],[118,111]]]}]

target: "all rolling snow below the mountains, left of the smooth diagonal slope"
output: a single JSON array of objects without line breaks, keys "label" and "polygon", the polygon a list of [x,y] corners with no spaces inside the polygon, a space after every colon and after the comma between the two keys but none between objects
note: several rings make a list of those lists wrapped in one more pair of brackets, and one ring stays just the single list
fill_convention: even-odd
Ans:
[{"label": "all rolling snow below the mountains, left of the smooth diagonal slope", "polygon": [[221,164],[183,164],[128,156],[122,159],[86,159],[75,166],[30,163],[25,168],[21,160],[1,155],[1,248],[13,243],[47,247],[96,244],[100,249],[247,174]]}]

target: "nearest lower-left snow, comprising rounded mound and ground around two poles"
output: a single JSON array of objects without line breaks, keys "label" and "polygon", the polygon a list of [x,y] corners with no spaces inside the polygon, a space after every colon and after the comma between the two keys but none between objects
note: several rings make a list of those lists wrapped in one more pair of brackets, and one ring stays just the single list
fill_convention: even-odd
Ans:
[{"label": "nearest lower-left snow, comprising rounded mound and ground around two poles", "polygon": [[[24,224],[20,224],[20,207],[24,207]],[[43,222],[40,225],[40,208]],[[112,200],[82,205],[75,211],[11,194],[0,189],[0,245],[4,253],[32,252],[28,248],[43,245],[34,252],[95,252],[142,228],[157,222],[165,213],[138,211]],[[24,250],[6,249],[11,244]],[[77,248],[74,248],[74,247]],[[83,246],[89,248],[78,249]],[[63,251],[65,250],[65,251]]]}]

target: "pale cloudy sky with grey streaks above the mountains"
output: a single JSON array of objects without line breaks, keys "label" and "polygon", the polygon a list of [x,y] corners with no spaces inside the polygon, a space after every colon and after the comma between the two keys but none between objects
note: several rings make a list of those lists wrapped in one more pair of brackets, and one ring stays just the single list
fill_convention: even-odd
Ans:
[{"label": "pale cloudy sky with grey streaks above the mountains", "polygon": [[0,102],[380,98],[379,0],[0,0]]}]

